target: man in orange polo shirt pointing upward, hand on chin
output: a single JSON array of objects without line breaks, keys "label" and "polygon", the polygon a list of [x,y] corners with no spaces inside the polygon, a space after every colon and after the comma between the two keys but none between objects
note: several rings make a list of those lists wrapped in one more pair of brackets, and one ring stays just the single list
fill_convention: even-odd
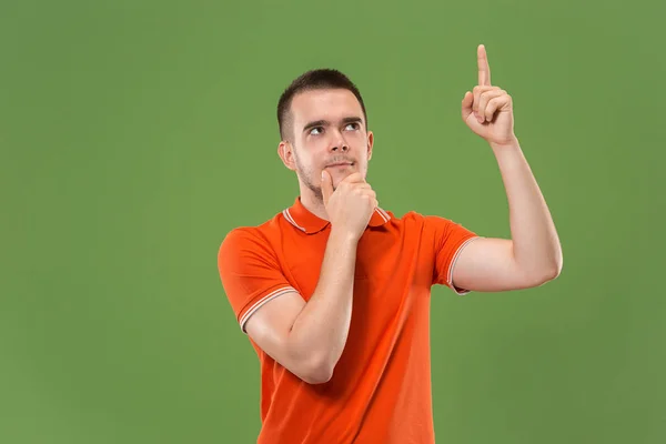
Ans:
[{"label": "man in orange polo shirt pointing upward, hand on chin", "polygon": [[381,209],[365,181],[365,105],[342,73],[309,71],[282,94],[278,153],[300,195],[270,221],[232,230],[218,258],[261,363],[259,443],[434,443],[432,285],[500,292],[559,274],[559,241],[514,134],[512,99],[491,85],[483,46],[477,63],[462,118],[497,159],[511,240]]}]

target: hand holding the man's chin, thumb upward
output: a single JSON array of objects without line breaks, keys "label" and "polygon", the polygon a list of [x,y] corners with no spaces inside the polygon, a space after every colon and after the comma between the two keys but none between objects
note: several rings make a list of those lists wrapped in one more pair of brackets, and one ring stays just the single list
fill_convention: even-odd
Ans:
[{"label": "hand holding the man's chin, thumb upward", "polygon": [[322,196],[332,229],[340,229],[356,241],[361,239],[379,204],[376,193],[363,175],[357,172],[347,175],[333,191],[331,174],[322,171]]}]

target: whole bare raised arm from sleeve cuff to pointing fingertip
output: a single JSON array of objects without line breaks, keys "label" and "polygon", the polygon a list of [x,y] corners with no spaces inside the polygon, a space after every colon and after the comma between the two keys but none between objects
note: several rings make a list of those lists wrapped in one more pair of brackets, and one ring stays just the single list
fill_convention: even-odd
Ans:
[{"label": "whole bare raised arm from sleeve cuff to pointing fingertip", "polygon": [[463,121],[491,145],[509,208],[511,240],[478,239],[460,253],[453,282],[474,291],[542,285],[559,275],[562,246],[551,212],[514,134],[512,98],[491,85],[485,48],[477,48],[478,84],[465,93]]}]

